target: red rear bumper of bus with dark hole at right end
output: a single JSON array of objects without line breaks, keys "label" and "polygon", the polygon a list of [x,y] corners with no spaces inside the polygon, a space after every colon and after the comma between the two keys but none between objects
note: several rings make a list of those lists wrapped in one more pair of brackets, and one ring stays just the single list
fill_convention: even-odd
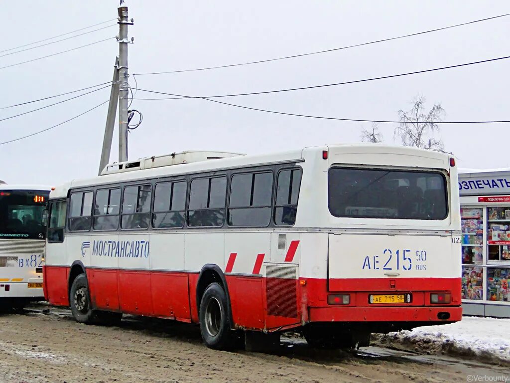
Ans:
[{"label": "red rear bumper of bus with dark hole at right end", "polygon": [[309,322],[433,322],[462,319],[459,306],[310,307]]}]

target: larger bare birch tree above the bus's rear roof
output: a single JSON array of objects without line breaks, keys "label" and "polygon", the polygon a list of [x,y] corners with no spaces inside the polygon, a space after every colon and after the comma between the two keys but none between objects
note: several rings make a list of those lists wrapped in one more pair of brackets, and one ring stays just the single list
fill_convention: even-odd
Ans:
[{"label": "larger bare birch tree above the bus's rear roof", "polygon": [[419,94],[413,100],[410,111],[398,111],[400,125],[395,128],[395,137],[399,137],[404,146],[444,151],[443,141],[433,137],[433,134],[440,132],[437,123],[442,121],[445,110],[441,104],[434,104],[432,109],[425,113],[425,100],[425,97]]}]

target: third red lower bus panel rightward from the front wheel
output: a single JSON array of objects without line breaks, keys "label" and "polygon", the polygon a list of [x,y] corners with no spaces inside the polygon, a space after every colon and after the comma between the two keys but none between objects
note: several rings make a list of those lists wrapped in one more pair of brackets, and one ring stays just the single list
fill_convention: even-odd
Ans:
[{"label": "third red lower bus panel rightward from the front wheel", "polygon": [[154,315],[191,321],[186,273],[151,273],[150,288]]}]

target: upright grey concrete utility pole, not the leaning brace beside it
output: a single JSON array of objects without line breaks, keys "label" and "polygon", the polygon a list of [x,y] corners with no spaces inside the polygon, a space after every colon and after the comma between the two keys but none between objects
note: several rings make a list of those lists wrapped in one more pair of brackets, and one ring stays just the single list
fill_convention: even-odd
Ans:
[{"label": "upright grey concrete utility pole, not the leaning brace beside it", "polygon": [[119,162],[127,161],[127,99],[129,90],[127,84],[127,26],[133,25],[133,19],[127,19],[127,6],[120,0],[117,9],[119,14]]}]

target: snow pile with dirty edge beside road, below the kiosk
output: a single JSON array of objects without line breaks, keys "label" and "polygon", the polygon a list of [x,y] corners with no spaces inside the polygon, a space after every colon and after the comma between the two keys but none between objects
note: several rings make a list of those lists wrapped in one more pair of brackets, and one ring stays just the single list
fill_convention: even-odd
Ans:
[{"label": "snow pile with dirty edge beside road, below the kiosk", "polygon": [[419,353],[476,357],[510,364],[510,319],[463,317],[461,322],[417,327],[376,337],[381,346]]}]

